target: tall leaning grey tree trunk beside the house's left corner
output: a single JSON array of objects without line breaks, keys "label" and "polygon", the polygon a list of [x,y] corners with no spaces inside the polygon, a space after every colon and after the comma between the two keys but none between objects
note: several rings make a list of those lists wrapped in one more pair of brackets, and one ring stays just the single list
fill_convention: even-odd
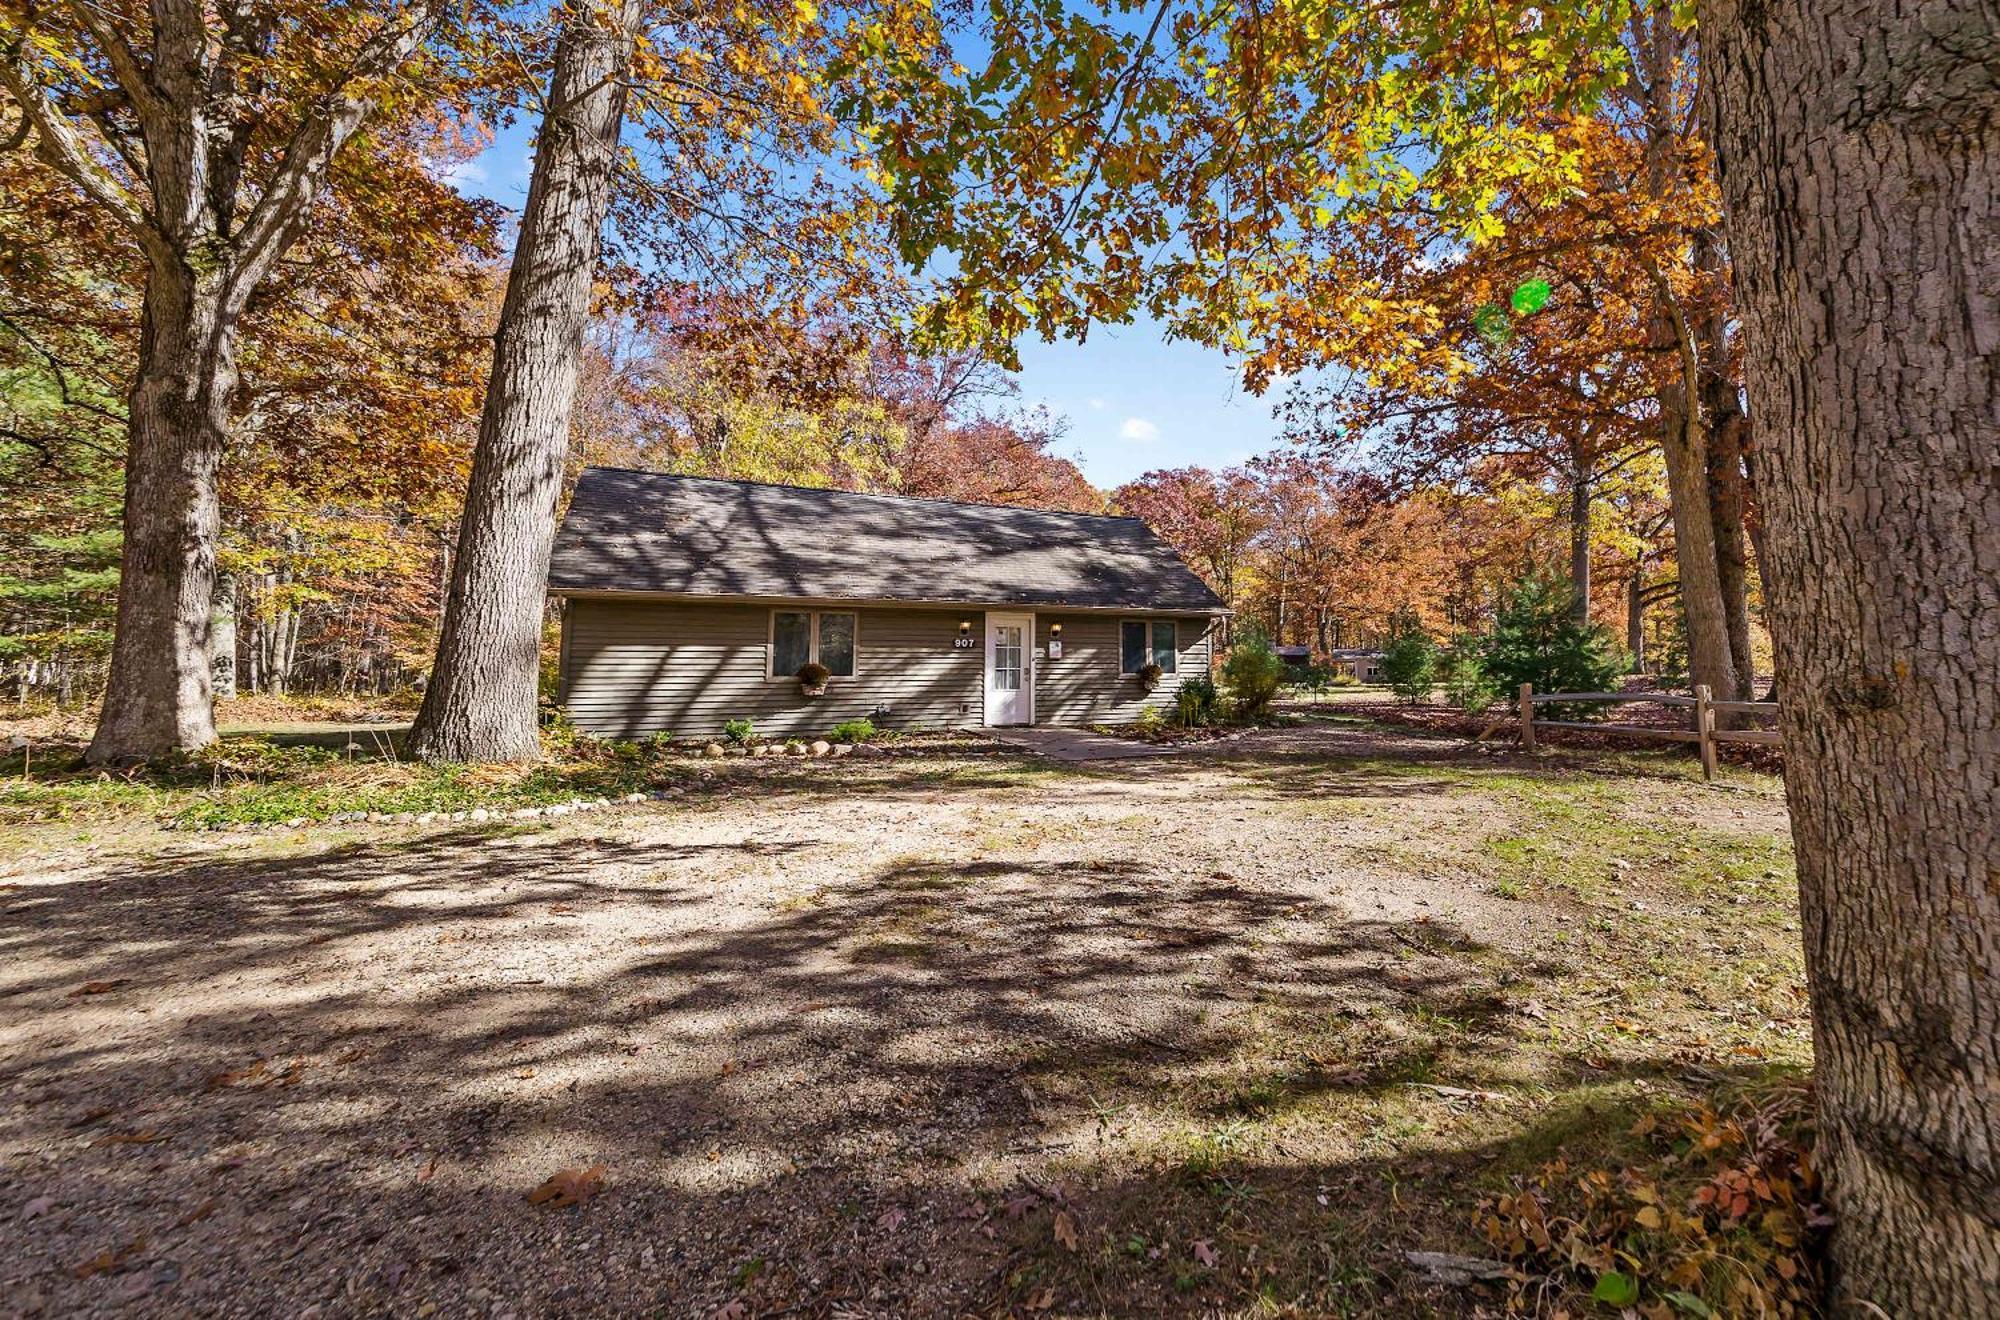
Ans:
[{"label": "tall leaning grey tree trunk beside the house's left corner", "polygon": [[438,664],[410,730],[424,760],[530,760],[556,500],[576,402],[636,0],[578,12],[556,44],[458,526]]}]

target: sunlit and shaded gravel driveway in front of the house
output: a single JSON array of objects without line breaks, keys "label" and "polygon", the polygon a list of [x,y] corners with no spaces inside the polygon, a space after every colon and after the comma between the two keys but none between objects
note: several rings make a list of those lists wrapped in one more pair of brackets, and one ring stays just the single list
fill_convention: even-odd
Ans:
[{"label": "sunlit and shaded gravel driveway in front of the house", "polygon": [[[1272,994],[1354,1012],[1542,942],[1384,860],[1480,828],[1426,778],[1454,754],[742,766],[488,832],[66,842],[0,876],[0,1310],[1006,1310],[996,1200],[1060,1198],[1092,1134],[1066,1078],[1142,1096]],[[1314,778],[1344,756],[1408,766]],[[564,1170],[580,1204],[530,1200]]]}]

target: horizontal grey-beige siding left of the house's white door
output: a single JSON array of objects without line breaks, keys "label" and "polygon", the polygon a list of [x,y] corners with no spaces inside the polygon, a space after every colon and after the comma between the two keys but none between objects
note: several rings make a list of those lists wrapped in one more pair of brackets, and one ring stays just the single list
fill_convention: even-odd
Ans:
[{"label": "horizontal grey-beige siding left of the house's white door", "polygon": [[[808,608],[808,606],[800,606]],[[846,612],[822,608],[822,612]],[[562,692],[570,718],[604,738],[702,736],[728,720],[764,734],[826,734],[888,706],[884,728],[978,726],[984,652],[956,650],[958,620],[978,612],[852,610],[854,678],[826,696],[766,678],[764,604],[570,600],[562,622]]]}]

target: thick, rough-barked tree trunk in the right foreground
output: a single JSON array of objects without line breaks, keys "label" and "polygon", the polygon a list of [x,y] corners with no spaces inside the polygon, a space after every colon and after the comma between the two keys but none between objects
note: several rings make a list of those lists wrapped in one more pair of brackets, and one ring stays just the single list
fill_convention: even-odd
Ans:
[{"label": "thick, rough-barked tree trunk in the right foreground", "polygon": [[1704,0],[1700,28],[1758,426],[1836,1308],[1994,1316],[1994,10]]}]

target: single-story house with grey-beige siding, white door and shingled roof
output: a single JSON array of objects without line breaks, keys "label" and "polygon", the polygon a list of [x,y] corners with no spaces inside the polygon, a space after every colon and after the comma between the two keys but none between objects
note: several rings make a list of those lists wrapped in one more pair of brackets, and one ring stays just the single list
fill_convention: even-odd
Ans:
[{"label": "single-story house with grey-beige siding, white door and shingled roof", "polygon": [[1228,614],[1138,518],[624,468],[578,480],[548,590],[562,704],[614,738],[1124,724]]}]

